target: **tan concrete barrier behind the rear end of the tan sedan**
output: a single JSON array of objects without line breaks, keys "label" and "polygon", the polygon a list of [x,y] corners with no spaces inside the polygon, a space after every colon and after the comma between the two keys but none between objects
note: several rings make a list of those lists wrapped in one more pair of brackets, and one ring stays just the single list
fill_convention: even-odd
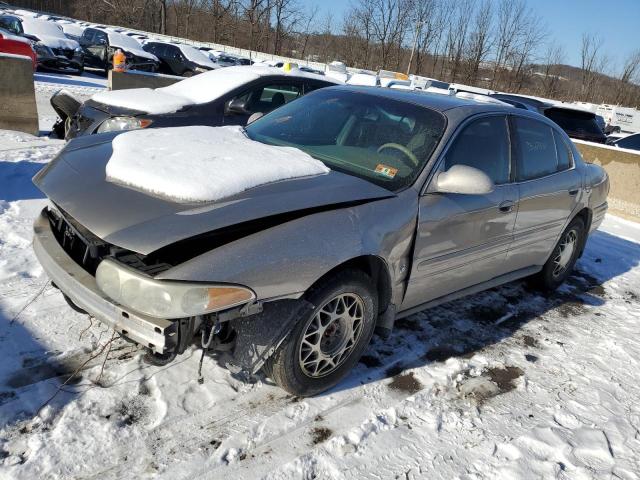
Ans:
[{"label": "tan concrete barrier behind the rear end of the tan sedan", "polygon": [[640,152],[597,143],[573,141],[582,158],[609,174],[609,211],[640,222]]}]

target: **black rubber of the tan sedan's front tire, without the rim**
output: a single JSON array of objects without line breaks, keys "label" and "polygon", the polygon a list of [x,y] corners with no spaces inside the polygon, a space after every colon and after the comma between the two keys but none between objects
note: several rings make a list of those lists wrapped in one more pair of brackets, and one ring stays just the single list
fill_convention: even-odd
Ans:
[{"label": "black rubber of the tan sedan's front tire, without the rim", "polygon": [[[350,351],[342,357],[335,369],[324,376],[309,376],[300,365],[303,334],[307,331],[307,327],[310,327],[318,312],[331,303],[332,299],[343,294],[359,298],[362,301],[359,303],[363,310],[359,334]],[[263,369],[265,374],[271,377],[278,386],[300,397],[316,395],[330,389],[351,371],[371,341],[378,312],[378,296],[372,281],[366,274],[358,270],[338,272],[310,290],[305,298],[315,308],[307,317],[301,318],[296,323],[284,342],[267,360]],[[321,342],[322,338],[324,335],[319,337],[318,341]]]}]

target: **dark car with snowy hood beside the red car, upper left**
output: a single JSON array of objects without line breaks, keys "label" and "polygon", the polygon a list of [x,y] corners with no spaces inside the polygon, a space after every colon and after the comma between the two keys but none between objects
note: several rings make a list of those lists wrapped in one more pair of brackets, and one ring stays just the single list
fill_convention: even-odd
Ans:
[{"label": "dark car with snowy hood beside the red car, upper left", "polygon": [[23,17],[24,36],[33,40],[38,55],[38,67],[44,70],[81,74],[84,55],[75,40],[67,38],[62,27],[40,18]]}]

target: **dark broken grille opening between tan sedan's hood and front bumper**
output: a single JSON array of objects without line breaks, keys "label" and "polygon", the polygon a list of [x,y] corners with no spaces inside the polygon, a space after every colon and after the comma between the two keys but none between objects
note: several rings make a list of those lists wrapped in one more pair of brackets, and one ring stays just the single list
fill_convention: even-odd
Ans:
[{"label": "dark broken grille opening between tan sedan's hood and front bumper", "polygon": [[101,240],[68,213],[59,207],[57,208],[57,211],[52,208],[47,210],[54,236],[67,255],[91,275],[96,274],[98,265],[105,257],[113,258],[152,277],[171,268],[168,263],[149,261],[150,259],[146,255]]}]

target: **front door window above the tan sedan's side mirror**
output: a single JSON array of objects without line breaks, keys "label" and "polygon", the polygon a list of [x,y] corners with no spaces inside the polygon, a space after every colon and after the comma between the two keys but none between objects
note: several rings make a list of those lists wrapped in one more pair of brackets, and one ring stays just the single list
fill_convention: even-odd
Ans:
[{"label": "front door window above the tan sedan's side mirror", "polygon": [[475,120],[460,132],[445,157],[445,170],[467,165],[486,173],[493,183],[509,182],[510,153],[507,119],[491,116]]}]

